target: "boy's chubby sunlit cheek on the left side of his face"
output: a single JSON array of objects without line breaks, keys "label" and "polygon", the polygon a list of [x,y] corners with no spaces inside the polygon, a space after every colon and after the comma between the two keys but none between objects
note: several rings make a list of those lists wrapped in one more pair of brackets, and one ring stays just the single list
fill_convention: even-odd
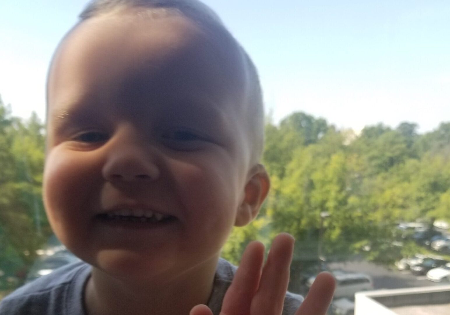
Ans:
[{"label": "boy's chubby sunlit cheek on the left side of his face", "polygon": [[55,148],[47,156],[43,185],[45,210],[54,232],[71,250],[89,231],[92,218],[89,211],[95,204],[97,182],[89,159],[80,159],[77,152]]}]

